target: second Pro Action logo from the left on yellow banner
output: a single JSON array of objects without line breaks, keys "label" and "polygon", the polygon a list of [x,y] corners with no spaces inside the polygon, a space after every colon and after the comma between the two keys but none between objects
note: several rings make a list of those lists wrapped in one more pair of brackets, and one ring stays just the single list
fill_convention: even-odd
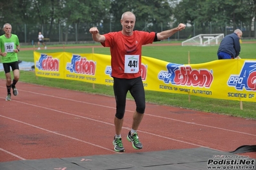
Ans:
[{"label": "second Pro Action logo from the left on yellow banner", "polygon": [[71,63],[67,63],[66,69],[71,73],[95,75],[96,62],[89,61],[87,58],[81,58],[81,56],[73,54]]}]

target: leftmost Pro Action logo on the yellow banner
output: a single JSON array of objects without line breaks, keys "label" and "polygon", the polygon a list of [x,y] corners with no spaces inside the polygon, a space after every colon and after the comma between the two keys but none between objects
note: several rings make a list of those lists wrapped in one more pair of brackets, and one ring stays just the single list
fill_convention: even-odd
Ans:
[{"label": "leftmost Pro Action logo on the yellow banner", "polygon": [[60,62],[58,59],[52,56],[47,56],[47,54],[41,54],[39,61],[36,61],[36,67],[38,70],[58,72]]}]

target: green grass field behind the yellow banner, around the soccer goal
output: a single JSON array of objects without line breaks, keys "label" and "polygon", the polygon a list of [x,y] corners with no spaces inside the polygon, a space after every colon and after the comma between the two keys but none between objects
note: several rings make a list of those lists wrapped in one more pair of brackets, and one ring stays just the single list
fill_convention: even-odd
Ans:
[{"label": "green grass field behind the yellow banner, around the soccer goal", "polygon": [[[176,43],[176,42],[175,42]],[[159,43],[158,43],[159,44]],[[83,45],[101,45],[99,43]],[[65,45],[67,46],[67,45]],[[31,47],[31,46],[25,46]],[[61,47],[56,46],[56,47]],[[255,52],[256,43],[242,43],[241,44],[241,58],[254,58],[256,59]],[[51,48],[51,46],[49,46]],[[143,46],[142,47],[142,56],[148,56],[151,58],[157,58],[171,63],[178,64],[187,64],[188,55],[191,58],[191,64],[206,63],[209,61],[214,61],[217,58],[218,46],[209,46],[209,47],[196,47],[196,46]],[[39,52],[63,52],[64,49],[47,49],[47,50],[38,50]],[[92,53],[92,48],[81,48],[81,49],[65,49],[65,52],[76,52],[76,53]],[[98,54],[110,54],[109,48],[94,48],[94,53]],[[31,61],[33,62],[33,50],[22,50],[19,53],[19,59],[22,61]]]}]

